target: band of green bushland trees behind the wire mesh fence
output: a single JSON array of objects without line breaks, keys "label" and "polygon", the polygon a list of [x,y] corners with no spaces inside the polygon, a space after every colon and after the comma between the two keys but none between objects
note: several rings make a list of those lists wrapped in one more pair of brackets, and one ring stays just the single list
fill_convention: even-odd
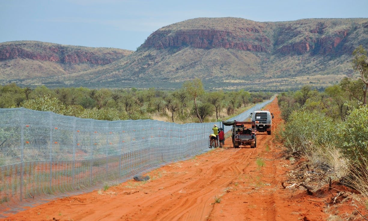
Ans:
[{"label": "band of green bushland trees behind the wire mesh fence", "polygon": [[198,78],[184,82],[175,91],[47,88],[45,85],[21,88],[11,83],[0,86],[0,108],[24,107],[98,120],[163,119],[202,123],[228,118],[272,95],[244,90],[206,92]]}]

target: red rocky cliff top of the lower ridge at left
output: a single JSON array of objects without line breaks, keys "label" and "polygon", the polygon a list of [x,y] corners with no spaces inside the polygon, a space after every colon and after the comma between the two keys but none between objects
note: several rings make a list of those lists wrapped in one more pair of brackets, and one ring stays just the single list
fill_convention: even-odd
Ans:
[{"label": "red rocky cliff top of the lower ridge at left", "polygon": [[123,49],[96,49],[33,41],[0,44],[0,60],[22,58],[72,64],[109,64],[130,53],[132,51]]}]

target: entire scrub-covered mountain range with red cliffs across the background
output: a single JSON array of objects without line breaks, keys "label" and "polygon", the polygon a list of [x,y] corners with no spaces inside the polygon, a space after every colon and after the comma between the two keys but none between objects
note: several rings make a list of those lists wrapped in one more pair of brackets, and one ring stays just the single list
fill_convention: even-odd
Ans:
[{"label": "entire scrub-covered mountain range with red cliffs across the background", "polygon": [[[351,76],[353,50],[368,45],[368,19],[195,18],[158,29],[135,52],[87,48],[89,53],[82,53],[74,46],[69,63],[68,56],[54,61],[42,56],[4,57],[15,49],[43,57],[54,53],[50,43],[37,42],[33,48],[28,44],[35,43],[0,43],[3,84],[175,90],[198,77],[207,90],[283,91],[306,84],[326,87]],[[73,48],[63,47],[63,52]],[[108,62],[86,59],[95,54],[109,57]]]}]

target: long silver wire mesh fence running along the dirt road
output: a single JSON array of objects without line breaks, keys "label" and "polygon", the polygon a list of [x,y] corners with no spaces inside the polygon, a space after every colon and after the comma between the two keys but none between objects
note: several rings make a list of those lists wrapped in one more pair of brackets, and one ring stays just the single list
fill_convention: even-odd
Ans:
[{"label": "long silver wire mesh fence running along the dirt road", "polygon": [[[247,119],[272,100],[230,120]],[[25,108],[0,109],[0,119],[0,218],[202,154],[214,124],[81,119]]]}]

